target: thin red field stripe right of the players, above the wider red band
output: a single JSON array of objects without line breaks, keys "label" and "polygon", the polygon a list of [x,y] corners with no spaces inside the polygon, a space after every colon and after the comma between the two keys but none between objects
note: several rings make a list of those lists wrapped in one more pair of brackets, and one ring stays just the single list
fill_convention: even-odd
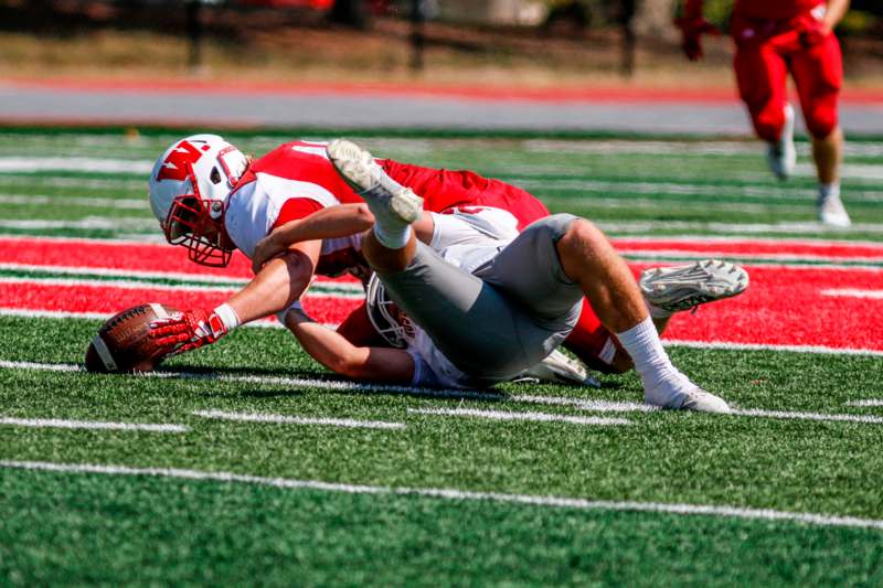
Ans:
[{"label": "thin red field stripe right of the players, above the wider red band", "polygon": [[844,242],[806,242],[806,240],[717,240],[701,238],[681,239],[611,239],[617,249],[628,253],[637,252],[689,252],[717,256],[813,256],[838,259],[877,258],[883,260],[883,243],[844,243]]}]

